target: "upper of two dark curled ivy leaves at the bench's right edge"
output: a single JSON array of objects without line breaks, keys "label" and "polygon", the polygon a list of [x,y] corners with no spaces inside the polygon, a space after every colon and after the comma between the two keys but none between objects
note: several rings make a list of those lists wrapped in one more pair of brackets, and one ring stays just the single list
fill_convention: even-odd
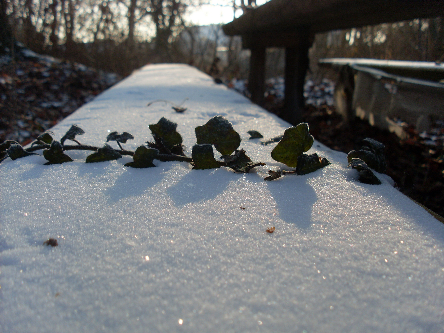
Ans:
[{"label": "upper of two dark curled ivy leaves at the bench's right edge", "polygon": [[386,168],[384,152],[384,144],[374,139],[366,138],[362,140],[361,150],[350,151],[347,159],[349,163],[352,159],[361,159],[373,170],[384,173]]}]

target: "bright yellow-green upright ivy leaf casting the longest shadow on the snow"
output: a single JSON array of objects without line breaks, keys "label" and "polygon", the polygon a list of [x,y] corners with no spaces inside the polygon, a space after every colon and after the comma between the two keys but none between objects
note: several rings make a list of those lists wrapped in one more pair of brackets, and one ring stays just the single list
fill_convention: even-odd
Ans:
[{"label": "bright yellow-green upright ivy leaf casting the longest shadow on the snow", "polygon": [[292,168],[297,166],[299,155],[308,151],[314,139],[310,135],[307,123],[287,128],[281,141],[271,151],[271,158]]}]

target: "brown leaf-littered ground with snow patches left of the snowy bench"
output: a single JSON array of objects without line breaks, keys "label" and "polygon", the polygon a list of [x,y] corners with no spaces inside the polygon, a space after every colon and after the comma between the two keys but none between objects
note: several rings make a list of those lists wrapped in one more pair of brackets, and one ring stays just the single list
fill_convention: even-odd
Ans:
[{"label": "brown leaf-littered ground with snow patches left of the snowy bench", "polygon": [[30,143],[118,79],[45,56],[0,56],[0,142]]}]

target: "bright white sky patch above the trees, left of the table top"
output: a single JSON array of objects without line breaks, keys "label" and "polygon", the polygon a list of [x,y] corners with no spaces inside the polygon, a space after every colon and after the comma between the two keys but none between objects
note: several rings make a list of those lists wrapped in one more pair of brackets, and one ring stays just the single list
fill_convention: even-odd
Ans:
[{"label": "bright white sky patch above the trees, left of the table top", "polygon": [[[265,4],[266,2],[267,0],[256,1],[258,5]],[[231,0],[210,0],[209,4],[190,9],[186,20],[196,25],[228,23],[233,20],[233,14]],[[242,11],[238,10],[236,17],[240,15],[242,15]]]}]

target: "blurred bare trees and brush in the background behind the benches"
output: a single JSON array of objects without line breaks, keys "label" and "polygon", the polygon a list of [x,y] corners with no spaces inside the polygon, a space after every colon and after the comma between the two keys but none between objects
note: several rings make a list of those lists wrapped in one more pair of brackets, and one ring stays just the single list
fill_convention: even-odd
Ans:
[{"label": "blurred bare trees and brush in the background behind the benches", "polygon": [[[225,36],[220,24],[199,27],[187,20],[190,10],[209,2],[0,0],[0,42],[2,49],[11,49],[18,40],[34,52],[121,76],[147,63],[178,62],[225,79],[246,78],[249,52],[239,37]],[[219,0],[217,5],[232,8],[234,17],[256,1]],[[317,34],[310,50],[316,76],[325,76],[317,67],[324,57],[443,61],[444,21],[416,19]],[[267,58],[267,77],[281,75],[283,50],[270,49]]]}]

